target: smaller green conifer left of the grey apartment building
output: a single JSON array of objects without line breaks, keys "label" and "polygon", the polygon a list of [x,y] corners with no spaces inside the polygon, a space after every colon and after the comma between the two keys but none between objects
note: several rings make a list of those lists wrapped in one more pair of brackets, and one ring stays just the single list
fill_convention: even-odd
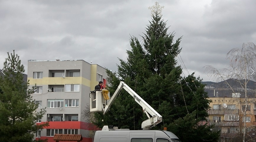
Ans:
[{"label": "smaller green conifer left of the grey apartment building", "polygon": [[37,125],[45,109],[36,112],[38,104],[32,100],[33,89],[28,89],[28,82],[23,81],[24,65],[19,56],[8,53],[4,62],[5,75],[0,77],[0,141],[32,142],[34,133],[48,123]]}]

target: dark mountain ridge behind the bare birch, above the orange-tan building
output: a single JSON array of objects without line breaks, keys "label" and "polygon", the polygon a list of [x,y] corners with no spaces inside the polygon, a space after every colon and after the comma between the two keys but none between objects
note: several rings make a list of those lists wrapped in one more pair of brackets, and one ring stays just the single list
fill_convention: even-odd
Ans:
[{"label": "dark mountain ridge behind the bare birch, above the orange-tan building", "polygon": [[[243,80],[234,80],[234,79],[228,79],[226,81],[221,82],[202,82],[203,84],[206,84],[205,91],[208,92],[208,97],[216,97],[218,92],[218,97],[232,97],[232,93],[240,93],[241,97],[245,97],[244,87],[241,86],[239,81],[244,82]],[[229,85],[232,87],[232,89],[229,87]],[[255,97],[256,96],[256,82],[249,80],[247,83],[247,91],[249,97]],[[215,90],[215,94],[214,94]]]}]

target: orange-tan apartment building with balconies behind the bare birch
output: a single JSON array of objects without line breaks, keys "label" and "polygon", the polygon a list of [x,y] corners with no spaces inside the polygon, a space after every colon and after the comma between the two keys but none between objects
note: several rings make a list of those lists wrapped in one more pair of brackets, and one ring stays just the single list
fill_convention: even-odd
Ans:
[{"label": "orange-tan apartment building with balconies behind the bare birch", "polygon": [[221,130],[220,141],[232,141],[239,133],[249,133],[255,137],[256,98],[248,98],[247,111],[245,98],[239,93],[232,97],[211,97],[211,109],[208,110],[209,123],[215,124],[215,130]]}]

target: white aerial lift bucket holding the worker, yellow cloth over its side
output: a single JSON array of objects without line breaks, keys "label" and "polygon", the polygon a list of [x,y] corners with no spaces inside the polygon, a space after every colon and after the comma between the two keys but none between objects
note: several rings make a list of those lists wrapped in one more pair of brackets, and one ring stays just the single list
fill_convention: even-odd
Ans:
[{"label": "white aerial lift bucket holding the worker, yellow cloth over its side", "polygon": [[103,112],[109,97],[108,90],[102,89],[101,91],[91,91],[90,112]]}]

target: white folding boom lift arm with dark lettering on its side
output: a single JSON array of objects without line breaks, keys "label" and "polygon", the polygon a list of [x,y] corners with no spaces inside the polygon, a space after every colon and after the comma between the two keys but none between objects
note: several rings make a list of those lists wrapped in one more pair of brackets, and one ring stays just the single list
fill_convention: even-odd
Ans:
[{"label": "white folding boom lift arm with dark lettering on its side", "polygon": [[141,124],[142,129],[150,129],[162,122],[162,116],[122,81],[120,82],[118,88],[115,90],[115,93],[112,95],[108,104],[105,106],[103,114],[107,113],[107,111],[110,109],[110,106],[122,89],[125,89],[134,98],[135,102],[137,102],[142,107],[144,113],[148,116],[149,119],[143,121]]}]

